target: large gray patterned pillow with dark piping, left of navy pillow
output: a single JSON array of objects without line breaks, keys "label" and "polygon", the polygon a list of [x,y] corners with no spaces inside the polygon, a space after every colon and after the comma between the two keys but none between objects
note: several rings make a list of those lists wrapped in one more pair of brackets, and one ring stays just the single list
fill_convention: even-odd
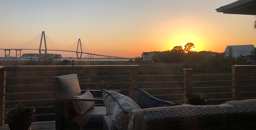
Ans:
[{"label": "large gray patterned pillow with dark piping, left of navy pillow", "polygon": [[109,118],[118,130],[127,130],[128,113],[141,109],[139,105],[127,96],[118,92],[101,90]]}]

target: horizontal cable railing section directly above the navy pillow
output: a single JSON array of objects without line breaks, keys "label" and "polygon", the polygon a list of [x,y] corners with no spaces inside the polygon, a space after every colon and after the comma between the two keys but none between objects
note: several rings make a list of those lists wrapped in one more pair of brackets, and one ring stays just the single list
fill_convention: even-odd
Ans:
[{"label": "horizontal cable railing section directly above the navy pillow", "polygon": [[[184,75],[139,75],[140,89],[171,102],[184,102]],[[173,86],[174,85],[174,86]]]}]

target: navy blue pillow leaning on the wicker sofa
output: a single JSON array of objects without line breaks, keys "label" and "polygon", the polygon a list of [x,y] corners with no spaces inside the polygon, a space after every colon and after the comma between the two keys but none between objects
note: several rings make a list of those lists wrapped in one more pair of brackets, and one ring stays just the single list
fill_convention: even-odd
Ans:
[{"label": "navy blue pillow leaning on the wicker sofa", "polygon": [[152,108],[152,107],[161,107],[161,106],[178,106],[182,105],[180,102],[169,102],[162,99],[158,99],[145,92],[142,89],[134,88],[137,104],[141,109]]}]

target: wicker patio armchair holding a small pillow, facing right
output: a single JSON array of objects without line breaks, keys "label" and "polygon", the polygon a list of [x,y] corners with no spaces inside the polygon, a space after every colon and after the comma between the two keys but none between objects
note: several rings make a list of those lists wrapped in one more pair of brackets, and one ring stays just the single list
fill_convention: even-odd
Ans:
[{"label": "wicker patio armchair holding a small pillow, facing right", "polygon": [[56,130],[102,130],[105,106],[93,106],[82,116],[75,112],[72,101],[102,101],[102,99],[72,98],[81,94],[76,74],[54,77]]}]

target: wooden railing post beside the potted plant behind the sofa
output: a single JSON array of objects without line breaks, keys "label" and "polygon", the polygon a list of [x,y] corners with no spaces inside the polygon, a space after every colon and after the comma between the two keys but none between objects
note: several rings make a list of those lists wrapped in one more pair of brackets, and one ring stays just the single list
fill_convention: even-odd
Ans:
[{"label": "wooden railing post beside the potted plant behind the sofa", "polygon": [[193,88],[193,69],[183,69],[184,71],[184,101],[190,96]]}]

